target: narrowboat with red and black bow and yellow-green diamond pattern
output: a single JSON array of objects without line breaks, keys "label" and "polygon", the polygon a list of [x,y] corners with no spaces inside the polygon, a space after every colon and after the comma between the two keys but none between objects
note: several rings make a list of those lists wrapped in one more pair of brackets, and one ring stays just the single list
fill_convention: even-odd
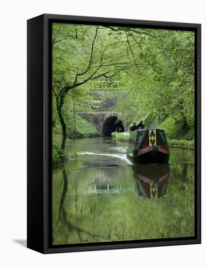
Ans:
[{"label": "narrowboat with red and black bow and yellow-green diamond pattern", "polygon": [[163,129],[131,131],[127,158],[135,164],[168,163],[169,148]]}]

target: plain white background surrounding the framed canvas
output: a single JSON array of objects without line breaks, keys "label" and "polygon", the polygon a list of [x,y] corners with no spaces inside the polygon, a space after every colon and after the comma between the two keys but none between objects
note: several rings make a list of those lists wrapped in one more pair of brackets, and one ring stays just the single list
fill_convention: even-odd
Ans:
[{"label": "plain white background surrounding the framed canvas", "polygon": [[[26,239],[26,19],[42,13],[202,23],[203,151],[206,8],[201,0],[7,0],[0,4],[0,266],[205,267],[206,177],[203,154],[203,244],[42,255]],[[19,241],[21,243],[17,243]]]}]

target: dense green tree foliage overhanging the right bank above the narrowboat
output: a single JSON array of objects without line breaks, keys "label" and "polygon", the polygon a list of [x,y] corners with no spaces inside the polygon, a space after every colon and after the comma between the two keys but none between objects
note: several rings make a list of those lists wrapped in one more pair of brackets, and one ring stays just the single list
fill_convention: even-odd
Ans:
[{"label": "dense green tree foliage overhanging the right bank above the narrowboat", "polygon": [[[144,36],[136,44],[150,64],[141,77],[130,80],[127,95],[117,103],[116,111],[130,122],[155,111],[160,120],[172,117],[186,133],[194,127],[194,33],[150,33],[154,38]],[[136,41],[132,43],[134,50]]]}]

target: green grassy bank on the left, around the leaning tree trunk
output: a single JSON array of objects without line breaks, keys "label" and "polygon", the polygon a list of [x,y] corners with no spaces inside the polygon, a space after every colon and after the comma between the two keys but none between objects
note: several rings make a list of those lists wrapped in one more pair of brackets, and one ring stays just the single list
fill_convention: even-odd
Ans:
[{"label": "green grassy bank on the left, around the leaning tree trunk", "polygon": [[[66,117],[67,134],[68,138],[86,138],[97,136],[97,130],[82,117],[69,113]],[[72,141],[71,141],[72,142]],[[52,131],[52,164],[53,166],[59,165],[65,160],[74,159],[78,157],[76,152],[68,151],[67,146],[64,152],[60,149],[62,143],[62,128],[60,124],[55,124]]]}]

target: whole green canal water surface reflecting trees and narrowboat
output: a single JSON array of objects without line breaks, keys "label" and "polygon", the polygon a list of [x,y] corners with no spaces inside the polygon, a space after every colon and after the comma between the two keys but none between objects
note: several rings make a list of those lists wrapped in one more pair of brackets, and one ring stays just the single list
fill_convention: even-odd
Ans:
[{"label": "whole green canal water surface reflecting trees and narrowboat", "polygon": [[79,153],[53,170],[53,245],[194,235],[194,151],[170,163],[132,165],[127,143],[72,139]]}]

